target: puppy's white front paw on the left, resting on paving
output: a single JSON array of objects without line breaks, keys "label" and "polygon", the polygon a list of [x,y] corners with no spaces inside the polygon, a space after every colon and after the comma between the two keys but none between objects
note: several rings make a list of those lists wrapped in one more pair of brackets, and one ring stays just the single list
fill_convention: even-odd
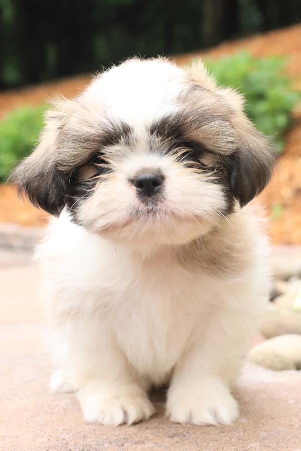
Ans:
[{"label": "puppy's white front paw on the left, resting on paving", "polygon": [[136,385],[99,385],[79,393],[84,420],[105,425],[132,424],[148,419],[155,409]]}]

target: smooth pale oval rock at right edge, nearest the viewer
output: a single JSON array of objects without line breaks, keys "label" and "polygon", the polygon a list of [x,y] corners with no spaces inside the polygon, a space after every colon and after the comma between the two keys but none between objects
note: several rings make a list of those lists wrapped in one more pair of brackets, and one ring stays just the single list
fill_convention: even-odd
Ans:
[{"label": "smooth pale oval rock at right edge, nearest the viewer", "polygon": [[274,371],[301,369],[301,335],[270,338],[254,346],[247,359]]}]

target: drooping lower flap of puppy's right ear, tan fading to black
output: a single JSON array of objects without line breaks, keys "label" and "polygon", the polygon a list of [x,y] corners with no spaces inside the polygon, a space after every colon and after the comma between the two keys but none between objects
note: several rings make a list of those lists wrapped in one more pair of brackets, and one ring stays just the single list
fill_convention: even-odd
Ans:
[{"label": "drooping lower flap of puppy's right ear, tan fading to black", "polygon": [[258,195],[269,182],[276,159],[271,141],[246,119],[238,131],[241,144],[227,157],[230,188],[241,207]]}]

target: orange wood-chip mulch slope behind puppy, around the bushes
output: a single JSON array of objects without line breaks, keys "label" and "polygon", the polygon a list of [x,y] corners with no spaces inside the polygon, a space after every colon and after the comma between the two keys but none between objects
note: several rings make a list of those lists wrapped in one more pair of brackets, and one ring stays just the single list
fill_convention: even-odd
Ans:
[{"label": "orange wood-chip mulch slope behind puppy, around the bushes", "polygon": [[[218,58],[246,50],[254,56],[287,56],[287,73],[301,90],[301,26],[272,31],[263,35],[222,44],[214,49],[175,57],[177,64],[187,64],[196,56]],[[0,93],[0,117],[22,104],[37,104],[54,94],[67,97],[82,90],[90,76],[71,77],[36,87]],[[274,244],[301,244],[301,106],[295,111],[295,124],[287,133],[285,149],[271,183],[259,196],[271,216],[269,231]],[[40,225],[46,213],[18,200],[15,188],[0,185],[0,221]]]}]

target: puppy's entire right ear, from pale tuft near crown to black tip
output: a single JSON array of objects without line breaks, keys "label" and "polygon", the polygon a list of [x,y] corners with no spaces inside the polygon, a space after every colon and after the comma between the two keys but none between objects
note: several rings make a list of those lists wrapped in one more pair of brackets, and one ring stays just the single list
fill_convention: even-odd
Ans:
[{"label": "puppy's entire right ear, from pale tuft near crown to black tip", "polygon": [[244,115],[243,97],[231,88],[217,86],[201,60],[195,61],[188,72],[194,81],[217,94],[219,102],[226,102],[228,106],[225,113],[235,133],[237,149],[228,152],[225,146],[220,156],[226,165],[230,188],[240,206],[244,206],[262,191],[271,177],[275,162],[271,141],[259,133]]}]

